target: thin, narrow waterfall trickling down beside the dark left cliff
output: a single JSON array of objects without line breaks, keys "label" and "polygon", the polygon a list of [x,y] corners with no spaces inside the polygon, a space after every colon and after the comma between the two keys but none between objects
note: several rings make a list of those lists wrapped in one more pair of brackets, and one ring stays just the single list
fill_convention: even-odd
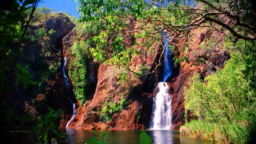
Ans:
[{"label": "thin, narrow waterfall trickling down beside the dark left cliff", "polygon": [[63,64],[63,67],[62,67],[62,71],[63,71],[63,77],[64,77],[64,81],[65,81],[65,84],[67,86],[67,89],[68,89],[68,100],[71,102],[71,104],[73,104],[73,116],[72,118],[70,119],[70,121],[68,122],[68,124],[66,125],[66,128],[68,128],[68,126],[70,125],[70,122],[76,117],[76,104],[72,102],[72,100],[70,100],[70,97],[69,97],[69,83],[68,83],[68,77],[66,75],[66,64],[67,64],[67,58],[64,57],[64,64]]}]

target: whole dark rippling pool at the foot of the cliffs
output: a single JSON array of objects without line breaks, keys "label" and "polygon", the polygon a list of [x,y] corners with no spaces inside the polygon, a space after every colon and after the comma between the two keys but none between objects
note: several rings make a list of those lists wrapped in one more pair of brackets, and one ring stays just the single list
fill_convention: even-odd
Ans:
[{"label": "whole dark rippling pool at the foot of the cliffs", "polygon": [[[85,144],[86,140],[95,136],[91,130],[67,128],[59,129],[59,132],[65,133],[66,138],[60,139],[58,144]],[[140,132],[140,130],[107,131],[104,141],[107,144],[139,144]],[[182,136],[177,130],[145,130],[145,132],[152,138],[152,144],[214,144]],[[7,141],[17,144],[34,144],[33,136],[31,131],[10,132],[10,138],[7,138]]]}]

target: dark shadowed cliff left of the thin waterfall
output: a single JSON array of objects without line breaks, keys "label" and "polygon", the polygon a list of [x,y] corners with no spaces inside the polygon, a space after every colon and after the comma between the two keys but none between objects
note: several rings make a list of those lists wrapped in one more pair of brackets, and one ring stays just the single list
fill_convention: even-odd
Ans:
[{"label": "dark shadowed cliff left of the thin waterfall", "polygon": [[[46,36],[38,36],[39,29],[43,28]],[[46,104],[54,110],[66,110],[65,113],[69,113],[71,104],[69,104],[67,98],[67,88],[63,80],[62,74],[62,54],[60,52],[62,44],[64,48],[67,48],[74,41],[74,32],[71,30],[74,28],[74,24],[64,14],[57,14],[51,16],[43,23],[36,26],[30,26],[28,31],[36,39],[36,42],[24,42],[22,50],[22,58],[30,64],[31,74],[35,74],[34,79],[41,83],[41,86],[37,88],[31,88],[32,94],[38,91],[38,95],[33,101],[38,103],[37,105],[28,105],[28,102],[24,102],[24,111],[28,108],[33,109],[35,116],[44,114],[45,109],[40,109],[41,104]],[[50,30],[55,30],[53,36],[49,36]],[[65,37],[64,37],[65,36]],[[69,38],[67,38],[69,36]],[[64,42],[62,43],[62,38]],[[49,74],[51,71],[51,74]],[[42,108],[43,106],[41,106]],[[68,115],[63,115],[62,118],[67,119]]]}]

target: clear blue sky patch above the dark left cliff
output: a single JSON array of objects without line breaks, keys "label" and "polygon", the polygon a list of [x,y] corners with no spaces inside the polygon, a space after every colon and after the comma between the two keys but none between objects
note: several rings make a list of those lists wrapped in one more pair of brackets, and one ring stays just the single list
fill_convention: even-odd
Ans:
[{"label": "clear blue sky patch above the dark left cliff", "polygon": [[43,5],[45,5],[47,8],[54,9],[56,12],[66,12],[72,14],[76,18],[79,16],[78,12],[76,12],[75,0],[42,0],[38,4],[38,8],[41,8]]}]

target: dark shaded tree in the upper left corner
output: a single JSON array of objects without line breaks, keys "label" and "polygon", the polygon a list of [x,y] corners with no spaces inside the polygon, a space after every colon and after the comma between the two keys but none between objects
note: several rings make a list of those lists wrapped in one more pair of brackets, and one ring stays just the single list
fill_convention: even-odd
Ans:
[{"label": "dark shaded tree in the upper left corner", "polygon": [[[22,40],[26,34],[34,11],[41,0],[2,0],[0,5],[0,76],[1,98],[12,88],[8,82],[13,76],[22,51]],[[27,10],[31,9],[29,15]]]}]

